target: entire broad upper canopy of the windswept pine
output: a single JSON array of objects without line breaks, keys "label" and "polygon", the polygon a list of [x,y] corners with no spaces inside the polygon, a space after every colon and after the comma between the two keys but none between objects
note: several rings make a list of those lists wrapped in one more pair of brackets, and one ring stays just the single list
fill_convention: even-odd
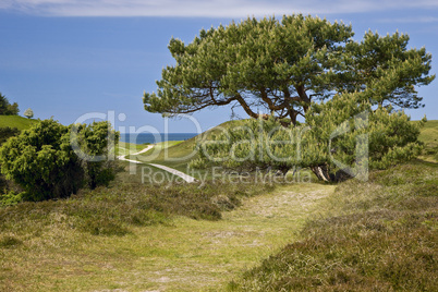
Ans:
[{"label": "entire broad upper canopy of the windswept pine", "polygon": [[178,115],[231,105],[295,124],[313,101],[369,88],[362,97],[372,106],[423,106],[415,86],[435,78],[426,49],[407,49],[399,33],[353,35],[351,25],[297,14],[202,29],[187,45],[172,38],[175,65],[144,94],[145,109]]}]

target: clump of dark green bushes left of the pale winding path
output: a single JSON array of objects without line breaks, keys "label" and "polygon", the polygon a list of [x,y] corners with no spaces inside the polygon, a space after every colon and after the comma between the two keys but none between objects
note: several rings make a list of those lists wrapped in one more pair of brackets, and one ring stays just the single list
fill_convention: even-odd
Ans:
[{"label": "clump of dark green bushes left of the pale winding path", "polygon": [[[93,187],[107,185],[114,178],[112,165],[87,161],[76,153],[87,153],[92,160],[97,155],[108,154],[108,126],[107,122],[81,125],[76,137],[84,147],[73,148],[72,141],[77,142],[72,138],[73,126],[53,120],[39,121],[2,145],[1,171],[25,190],[22,196],[25,200],[68,197],[84,183]],[[114,137],[113,131],[110,133]]]}]

